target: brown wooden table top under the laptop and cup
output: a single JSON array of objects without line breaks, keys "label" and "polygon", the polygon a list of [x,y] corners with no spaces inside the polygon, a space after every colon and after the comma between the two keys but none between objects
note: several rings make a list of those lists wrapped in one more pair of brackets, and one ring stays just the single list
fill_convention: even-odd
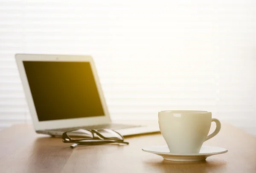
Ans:
[{"label": "brown wooden table top under the laptop and cup", "polygon": [[144,146],[166,144],[160,133],[127,141],[71,149],[60,138],[36,134],[31,125],[15,125],[0,131],[0,173],[256,173],[256,138],[227,124],[205,144],[228,152],[201,162],[165,161],[143,152]]}]

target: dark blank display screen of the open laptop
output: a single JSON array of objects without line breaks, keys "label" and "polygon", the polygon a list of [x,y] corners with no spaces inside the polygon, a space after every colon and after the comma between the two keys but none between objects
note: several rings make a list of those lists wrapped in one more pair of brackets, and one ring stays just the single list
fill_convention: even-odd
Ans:
[{"label": "dark blank display screen of the open laptop", "polygon": [[23,65],[39,121],[105,115],[89,62]]}]

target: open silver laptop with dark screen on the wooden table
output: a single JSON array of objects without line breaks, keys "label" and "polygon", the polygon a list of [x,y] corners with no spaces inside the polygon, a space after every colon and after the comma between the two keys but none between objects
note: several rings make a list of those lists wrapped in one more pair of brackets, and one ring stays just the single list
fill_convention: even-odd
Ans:
[{"label": "open silver laptop with dark screen on the wooden table", "polygon": [[[123,136],[159,132],[155,125],[111,121],[95,63],[81,55],[15,55],[36,133],[112,129]],[[79,134],[77,134],[79,135]]]}]

